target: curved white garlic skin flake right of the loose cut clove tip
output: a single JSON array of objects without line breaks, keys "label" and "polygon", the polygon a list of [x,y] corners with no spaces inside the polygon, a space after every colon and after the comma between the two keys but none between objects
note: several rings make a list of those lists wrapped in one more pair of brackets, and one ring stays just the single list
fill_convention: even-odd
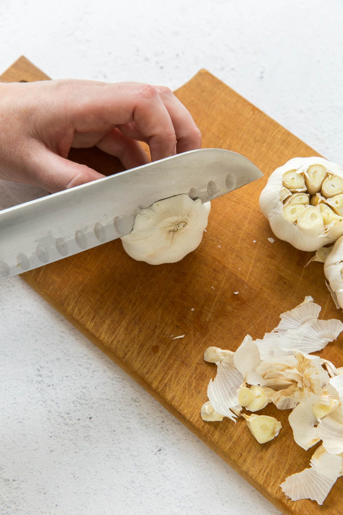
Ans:
[{"label": "curved white garlic skin flake right of the loose cut clove tip", "polygon": [[316,427],[318,420],[311,404],[300,402],[290,413],[288,421],[292,427],[295,442],[305,451],[319,442]]}]

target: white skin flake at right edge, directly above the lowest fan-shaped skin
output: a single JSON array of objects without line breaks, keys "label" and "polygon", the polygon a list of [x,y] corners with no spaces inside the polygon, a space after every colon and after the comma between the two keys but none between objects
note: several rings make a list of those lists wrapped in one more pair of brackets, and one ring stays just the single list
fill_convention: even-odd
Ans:
[{"label": "white skin flake at right edge, directly above the lowest fan-shaped skin", "polygon": [[319,420],[318,436],[330,454],[343,452],[343,414],[341,407]]}]

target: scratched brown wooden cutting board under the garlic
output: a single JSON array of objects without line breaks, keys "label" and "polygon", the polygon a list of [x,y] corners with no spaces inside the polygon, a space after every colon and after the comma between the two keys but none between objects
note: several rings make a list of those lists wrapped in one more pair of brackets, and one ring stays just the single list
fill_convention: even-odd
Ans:
[{"label": "scratched brown wooden cutting board under the garlic", "polygon": [[[45,79],[23,57],[0,78]],[[208,346],[236,350],[247,333],[261,338],[278,324],[280,313],[305,295],[322,306],[323,318],[340,316],[324,285],[323,266],[304,268],[310,254],[279,240],[269,243],[273,234],[258,205],[259,193],[277,166],[318,154],[205,70],[175,94],[200,127],[203,147],[242,153],[264,178],[213,201],[202,244],[179,263],[136,262],[117,240],[22,277],[283,513],[338,515],[343,512],[341,478],[322,507],[286,500],[279,488],[287,475],[309,466],[313,452],[295,444],[289,411],[272,405],[263,410],[283,426],[264,445],[242,419],[237,424],[227,419],[206,423],[200,417],[215,374],[215,365],[203,361]],[[96,149],[73,151],[70,158],[102,173],[122,169]],[[183,339],[171,339],[182,334]],[[342,341],[339,337],[321,352],[339,366]]]}]

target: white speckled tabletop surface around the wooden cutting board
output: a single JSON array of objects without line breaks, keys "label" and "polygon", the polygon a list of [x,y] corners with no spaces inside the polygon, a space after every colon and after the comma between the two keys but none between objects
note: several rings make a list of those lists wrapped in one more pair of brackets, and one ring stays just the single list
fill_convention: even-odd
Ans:
[{"label": "white speckled tabletop surface around the wooden cutting board", "polygon": [[[175,89],[205,67],[342,164],[342,26],[341,0],[0,0],[0,71]],[[40,194],[0,183],[0,208]],[[1,515],[279,513],[18,278],[0,367]]]}]

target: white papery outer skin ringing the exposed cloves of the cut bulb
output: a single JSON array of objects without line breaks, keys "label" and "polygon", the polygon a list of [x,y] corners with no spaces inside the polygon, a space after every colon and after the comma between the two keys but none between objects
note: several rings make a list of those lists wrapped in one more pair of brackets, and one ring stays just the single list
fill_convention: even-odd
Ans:
[{"label": "white papery outer skin ringing the exposed cloves of the cut bulb", "polygon": [[[261,211],[269,220],[270,227],[274,234],[278,238],[291,243],[297,249],[306,251],[318,250],[324,245],[335,242],[336,239],[343,234],[343,224],[339,224],[331,230],[328,229],[327,231],[322,232],[322,234],[316,237],[308,236],[301,232],[296,224],[288,222],[283,217],[283,202],[280,196],[280,192],[283,189],[283,175],[287,171],[296,170],[298,174],[303,174],[305,176],[306,170],[308,170],[311,165],[322,165],[326,168],[328,173],[343,178],[343,167],[338,164],[331,163],[326,159],[319,157],[293,158],[290,161],[287,161],[283,166],[280,166],[273,171],[260,195]],[[287,189],[288,191],[292,191],[288,187]]]}]

